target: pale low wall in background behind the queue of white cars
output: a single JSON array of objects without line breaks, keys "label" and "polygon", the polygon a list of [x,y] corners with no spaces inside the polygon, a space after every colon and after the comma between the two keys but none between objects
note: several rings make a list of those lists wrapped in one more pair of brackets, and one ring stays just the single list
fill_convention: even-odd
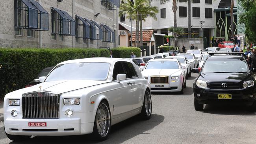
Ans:
[{"label": "pale low wall in background behind the queue of white cars", "polygon": [[[190,50],[191,43],[195,46],[195,49],[204,50],[204,40],[203,38],[191,38],[191,39],[178,39],[177,46],[179,50],[182,50],[182,46],[186,47],[186,51]],[[174,39],[171,39],[171,46],[174,46]]]}]

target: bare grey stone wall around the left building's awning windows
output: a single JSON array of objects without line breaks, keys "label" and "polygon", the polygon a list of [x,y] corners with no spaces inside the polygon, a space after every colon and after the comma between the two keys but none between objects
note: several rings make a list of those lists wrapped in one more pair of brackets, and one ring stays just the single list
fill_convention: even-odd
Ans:
[{"label": "bare grey stone wall around the left building's awning windows", "polygon": [[[38,1],[38,0],[37,0]],[[56,36],[56,40],[51,39],[52,21],[51,21],[51,9],[50,7],[56,7],[64,10],[71,17],[75,19],[75,15],[80,17],[94,20],[98,24],[102,23],[108,25],[113,31],[117,30],[116,26],[116,11],[108,10],[101,5],[100,0],[74,0],[74,13],[72,13],[73,0],[63,0],[57,2],[56,0],[41,0],[41,6],[48,12],[49,15],[49,30],[42,31],[42,47],[47,48],[63,48],[74,47],[78,48],[98,48],[98,47],[113,47],[113,43],[90,41],[79,39],[75,40],[75,36],[64,36],[64,41],[59,41],[59,35]],[[94,15],[100,13],[98,17]],[[114,16],[113,16],[114,13]],[[22,29],[22,35],[14,35],[14,0],[1,0],[0,4],[0,47],[38,47],[38,31],[34,31],[34,37],[27,37],[27,30]],[[93,42],[93,43],[92,43]]]}]

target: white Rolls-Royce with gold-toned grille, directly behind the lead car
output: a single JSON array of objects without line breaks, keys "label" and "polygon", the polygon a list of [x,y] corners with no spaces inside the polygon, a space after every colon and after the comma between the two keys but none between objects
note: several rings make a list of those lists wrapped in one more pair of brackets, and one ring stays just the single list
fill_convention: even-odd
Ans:
[{"label": "white Rolls-Royce with gold-toned grille, directly behind the lead car", "polygon": [[186,88],[186,74],[177,59],[150,59],[141,72],[152,92],[180,92]]}]

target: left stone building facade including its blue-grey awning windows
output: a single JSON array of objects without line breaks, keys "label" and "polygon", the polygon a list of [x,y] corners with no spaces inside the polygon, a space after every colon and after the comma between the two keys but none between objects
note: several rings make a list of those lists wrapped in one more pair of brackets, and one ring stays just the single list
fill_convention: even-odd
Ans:
[{"label": "left stone building facade including its blue-grey awning windows", "polygon": [[0,47],[117,47],[119,2],[1,0],[0,7]]}]

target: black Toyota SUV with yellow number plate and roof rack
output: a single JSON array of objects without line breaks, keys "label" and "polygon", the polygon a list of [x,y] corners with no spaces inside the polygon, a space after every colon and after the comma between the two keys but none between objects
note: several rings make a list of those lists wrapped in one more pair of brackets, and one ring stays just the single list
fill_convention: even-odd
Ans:
[{"label": "black Toyota SUV with yellow number plate and roof rack", "polygon": [[[215,55],[214,55],[215,54]],[[204,104],[243,103],[256,109],[256,82],[243,53],[211,53],[194,82],[194,106],[202,111]]]}]

